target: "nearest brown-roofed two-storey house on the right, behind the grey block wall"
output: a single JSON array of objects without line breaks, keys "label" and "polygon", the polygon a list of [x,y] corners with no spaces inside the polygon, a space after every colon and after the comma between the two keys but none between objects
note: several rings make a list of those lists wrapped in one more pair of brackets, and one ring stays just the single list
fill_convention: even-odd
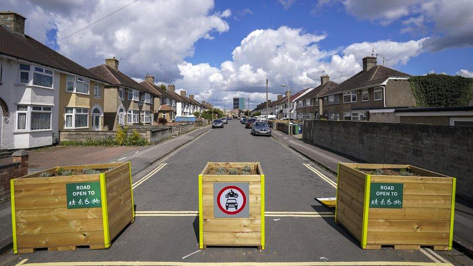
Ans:
[{"label": "nearest brown-roofed two-storey house on the right, behind the grey block wall", "polygon": [[329,120],[367,120],[371,108],[412,107],[415,98],[409,74],[363,58],[363,70],[319,95],[322,114]]}]

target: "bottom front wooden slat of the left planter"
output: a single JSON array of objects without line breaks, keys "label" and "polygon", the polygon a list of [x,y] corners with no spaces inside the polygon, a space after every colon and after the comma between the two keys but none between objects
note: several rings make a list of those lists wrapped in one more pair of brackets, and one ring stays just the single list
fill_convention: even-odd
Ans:
[{"label": "bottom front wooden slat of the left planter", "polygon": [[18,235],[18,248],[47,248],[57,246],[80,246],[100,244],[104,241],[102,231],[73,232],[46,235]]}]

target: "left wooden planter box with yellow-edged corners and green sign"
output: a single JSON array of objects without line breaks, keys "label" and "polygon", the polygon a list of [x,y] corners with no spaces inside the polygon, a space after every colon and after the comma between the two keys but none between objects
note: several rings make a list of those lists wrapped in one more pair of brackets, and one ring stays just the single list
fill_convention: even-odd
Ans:
[{"label": "left wooden planter box with yellow-edged corners and green sign", "polygon": [[[56,172],[58,168],[43,172]],[[76,250],[77,246],[107,249],[111,239],[134,221],[129,162],[62,168],[113,169],[101,174],[53,177],[39,177],[38,172],[12,179],[15,253],[32,253],[39,248]]]}]

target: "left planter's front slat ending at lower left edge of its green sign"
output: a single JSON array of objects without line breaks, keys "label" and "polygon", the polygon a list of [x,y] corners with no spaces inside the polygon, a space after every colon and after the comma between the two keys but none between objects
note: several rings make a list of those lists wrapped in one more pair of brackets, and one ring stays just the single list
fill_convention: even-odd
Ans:
[{"label": "left planter's front slat ending at lower left edge of its green sign", "polygon": [[67,207],[66,195],[15,198],[15,210]]}]

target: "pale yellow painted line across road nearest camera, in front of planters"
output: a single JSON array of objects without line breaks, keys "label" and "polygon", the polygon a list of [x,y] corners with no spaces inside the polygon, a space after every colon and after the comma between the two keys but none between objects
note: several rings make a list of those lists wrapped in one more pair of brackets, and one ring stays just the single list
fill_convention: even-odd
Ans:
[{"label": "pale yellow painted line across road nearest camera, in front of planters", "polygon": [[451,266],[451,263],[432,263],[432,262],[390,262],[390,261],[343,261],[343,262],[159,262],[159,261],[90,261],[90,262],[46,262],[46,263],[26,263],[28,259],[24,259],[16,266]]}]

